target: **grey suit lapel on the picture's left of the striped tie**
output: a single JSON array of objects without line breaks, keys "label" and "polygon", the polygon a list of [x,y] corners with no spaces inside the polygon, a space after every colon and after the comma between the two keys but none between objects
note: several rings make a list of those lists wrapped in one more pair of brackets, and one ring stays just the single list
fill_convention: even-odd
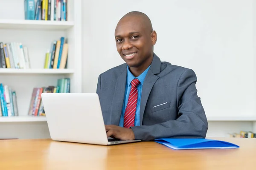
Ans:
[{"label": "grey suit lapel on the picture's left of the striped tie", "polygon": [[111,118],[110,118],[111,125],[117,125],[117,126],[119,125],[124,96],[125,96],[126,77],[127,77],[127,69],[125,67],[122,73],[119,75],[119,77],[116,80],[113,102],[111,105]]}]

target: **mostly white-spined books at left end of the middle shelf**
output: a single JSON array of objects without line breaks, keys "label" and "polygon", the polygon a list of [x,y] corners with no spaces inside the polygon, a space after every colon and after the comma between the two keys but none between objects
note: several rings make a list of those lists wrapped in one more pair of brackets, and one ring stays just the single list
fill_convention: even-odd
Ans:
[{"label": "mostly white-spined books at left end of the middle shelf", "polygon": [[0,68],[30,68],[27,47],[20,42],[0,42]]}]

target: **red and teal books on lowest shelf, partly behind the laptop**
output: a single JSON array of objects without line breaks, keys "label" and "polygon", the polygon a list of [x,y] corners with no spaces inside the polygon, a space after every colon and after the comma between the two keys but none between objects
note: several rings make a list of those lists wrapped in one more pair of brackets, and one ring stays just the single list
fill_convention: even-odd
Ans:
[{"label": "red and teal books on lowest shelf, partly behind the laptop", "polygon": [[45,116],[42,93],[70,93],[70,78],[58,79],[57,86],[34,88],[29,105],[28,115]]}]

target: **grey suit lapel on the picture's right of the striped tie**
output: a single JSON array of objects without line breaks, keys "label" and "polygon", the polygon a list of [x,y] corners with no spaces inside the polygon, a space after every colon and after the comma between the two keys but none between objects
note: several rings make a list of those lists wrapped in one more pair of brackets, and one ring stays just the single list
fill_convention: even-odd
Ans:
[{"label": "grey suit lapel on the picture's right of the striped tie", "polygon": [[145,107],[148,101],[148,96],[154,86],[154,83],[157,81],[157,79],[159,79],[159,77],[157,77],[155,74],[160,73],[160,68],[161,68],[161,61],[157,57],[157,55],[154,54],[153,61],[145,77],[145,80],[143,82],[143,87],[142,87],[142,93],[141,93],[141,99],[140,99],[140,125],[142,125],[142,122],[143,122],[143,115],[144,115]]}]

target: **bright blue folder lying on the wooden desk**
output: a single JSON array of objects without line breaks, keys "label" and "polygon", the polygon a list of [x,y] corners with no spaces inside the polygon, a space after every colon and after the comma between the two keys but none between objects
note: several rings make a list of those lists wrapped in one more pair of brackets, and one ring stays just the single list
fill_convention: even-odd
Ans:
[{"label": "bright blue folder lying on the wooden desk", "polygon": [[155,139],[154,142],[163,144],[175,150],[184,149],[233,149],[239,146],[230,142],[213,139]]}]

